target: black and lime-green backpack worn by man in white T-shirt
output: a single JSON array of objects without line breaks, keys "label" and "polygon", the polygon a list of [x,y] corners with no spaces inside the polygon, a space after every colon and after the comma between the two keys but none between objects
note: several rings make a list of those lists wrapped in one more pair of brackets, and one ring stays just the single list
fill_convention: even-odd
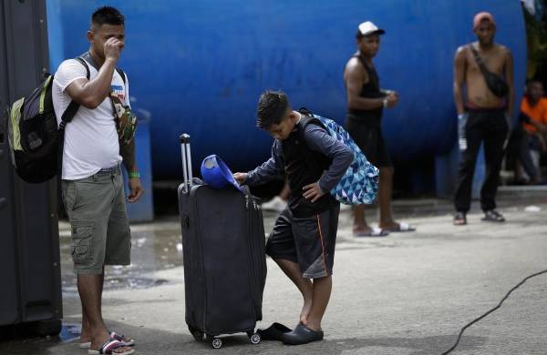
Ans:
[{"label": "black and lime-green backpack worn by man in white T-shirt", "polygon": [[[89,79],[88,63],[82,56],[76,59],[86,67]],[[125,75],[117,70],[125,84]],[[45,80],[29,96],[18,99],[9,108],[7,126],[12,163],[17,175],[30,183],[60,176],[65,127],[79,108],[76,101],[71,101],[57,127],[51,94],[53,79],[54,76],[46,74]]]}]

